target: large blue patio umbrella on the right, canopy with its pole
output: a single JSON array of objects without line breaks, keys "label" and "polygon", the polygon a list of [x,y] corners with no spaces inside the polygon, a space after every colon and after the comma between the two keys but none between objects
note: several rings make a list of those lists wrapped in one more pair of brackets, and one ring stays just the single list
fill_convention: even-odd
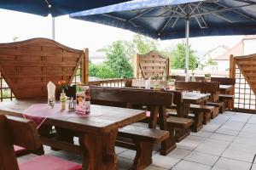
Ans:
[{"label": "large blue patio umbrella on the right, canopy with its pole", "polygon": [[189,37],[256,34],[256,0],[142,0],[70,14],[148,37],[186,37],[186,80]]}]

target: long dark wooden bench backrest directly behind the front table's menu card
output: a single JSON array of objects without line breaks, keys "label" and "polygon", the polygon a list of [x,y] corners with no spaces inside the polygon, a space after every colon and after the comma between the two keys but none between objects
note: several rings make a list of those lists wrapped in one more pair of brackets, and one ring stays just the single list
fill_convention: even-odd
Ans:
[{"label": "long dark wooden bench backrest directly behind the front table's menu card", "polygon": [[131,105],[172,105],[173,94],[131,88],[90,86],[90,100],[92,103],[109,101]]}]

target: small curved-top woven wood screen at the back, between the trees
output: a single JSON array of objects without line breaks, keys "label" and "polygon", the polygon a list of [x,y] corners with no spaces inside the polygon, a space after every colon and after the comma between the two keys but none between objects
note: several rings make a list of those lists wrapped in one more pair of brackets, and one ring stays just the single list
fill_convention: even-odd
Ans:
[{"label": "small curved-top woven wood screen at the back, between the trees", "polygon": [[134,66],[134,75],[137,79],[159,77],[167,80],[169,77],[169,59],[155,51],[148,54],[137,54]]}]

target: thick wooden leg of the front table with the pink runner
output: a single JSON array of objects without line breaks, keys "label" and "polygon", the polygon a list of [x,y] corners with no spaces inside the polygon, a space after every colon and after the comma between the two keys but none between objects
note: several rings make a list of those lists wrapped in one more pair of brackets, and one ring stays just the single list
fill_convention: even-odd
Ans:
[{"label": "thick wooden leg of the front table with the pink runner", "polygon": [[115,170],[117,157],[114,144],[118,129],[111,133],[84,133],[79,137],[79,144],[84,152],[83,169]]}]

